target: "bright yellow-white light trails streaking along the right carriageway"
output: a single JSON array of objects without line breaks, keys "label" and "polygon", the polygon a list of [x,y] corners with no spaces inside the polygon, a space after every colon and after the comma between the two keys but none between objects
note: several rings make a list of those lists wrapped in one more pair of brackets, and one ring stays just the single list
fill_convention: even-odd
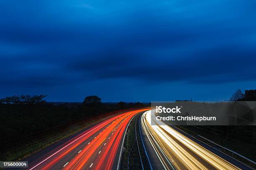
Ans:
[{"label": "bright yellow-white light trails streaking along the right carriageway", "polygon": [[[151,115],[151,113],[153,113]],[[154,111],[142,115],[142,127],[165,169],[239,170],[193,140],[156,120]],[[169,164],[166,163],[166,160]],[[174,168],[172,168],[174,169]]]}]

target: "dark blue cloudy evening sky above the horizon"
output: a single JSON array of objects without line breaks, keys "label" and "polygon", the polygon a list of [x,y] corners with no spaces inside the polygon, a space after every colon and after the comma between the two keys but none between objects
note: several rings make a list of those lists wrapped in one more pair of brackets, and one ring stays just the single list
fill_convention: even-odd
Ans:
[{"label": "dark blue cloudy evening sky above the horizon", "polygon": [[256,89],[255,0],[1,0],[0,98],[225,100]]}]

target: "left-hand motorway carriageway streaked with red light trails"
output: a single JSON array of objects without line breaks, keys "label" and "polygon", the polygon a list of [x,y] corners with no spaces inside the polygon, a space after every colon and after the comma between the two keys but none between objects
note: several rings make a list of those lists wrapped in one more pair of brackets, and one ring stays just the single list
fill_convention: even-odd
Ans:
[{"label": "left-hand motorway carriageway streaked with red light trails", "polygon": [[28,157],[29,170],[117,169],[124,134],[137,109],[115,114],[104,121]]}]

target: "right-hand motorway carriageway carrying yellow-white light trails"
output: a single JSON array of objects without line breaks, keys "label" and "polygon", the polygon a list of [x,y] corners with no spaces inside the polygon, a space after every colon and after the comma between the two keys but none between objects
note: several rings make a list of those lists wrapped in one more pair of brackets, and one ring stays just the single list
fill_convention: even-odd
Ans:
[{"label": "right-hand motorway carriageway carrying yellow-white light trails", "polygon": [[[179,132],[177,128],[159,123],[156,116],[151,115],[151,111],[142,115],[141,131],[144,134],[143,140],[147,138],[145,145],[150,153],[148,155],[153,169],[155,164],[161,164],[157,169],[166,170],[251,169],[209,145],[205,146],[206,144]],[[152,154],[152,150],[156,156]]]}]

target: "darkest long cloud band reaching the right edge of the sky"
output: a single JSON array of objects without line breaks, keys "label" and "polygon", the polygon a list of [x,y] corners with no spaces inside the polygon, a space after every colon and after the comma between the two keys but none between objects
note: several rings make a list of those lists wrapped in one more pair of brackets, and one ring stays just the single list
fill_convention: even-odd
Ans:
[{"label": "darkest long cloud band reaching the right edge of the sky", "polygon": [[[136,78],[159,81],[189,81],[190,83],[223,83],[255,79],[256,50],[224,46],[207,51],[187,54],[175,58],[169,54],[165,58],[138,54],[110,53],[102,51],[97,58],[80,58],[70,68],[74,71],[90,71],[95,78]],[[150,56],[150,55],[149,55]],[[246,56],[246,57],[242,57]]]}]

